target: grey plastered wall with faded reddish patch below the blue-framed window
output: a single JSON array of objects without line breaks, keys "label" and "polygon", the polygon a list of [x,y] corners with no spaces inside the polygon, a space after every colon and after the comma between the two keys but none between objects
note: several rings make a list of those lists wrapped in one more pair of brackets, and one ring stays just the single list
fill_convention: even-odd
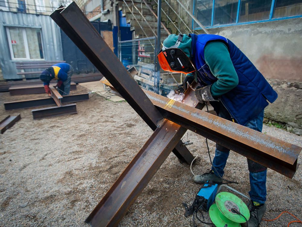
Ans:
[{"label": "grey plastered wall with faded reddish patch below the blue-framed window", "polygon": [[266,78],[302,81],[302,18],[208,31],[234,42]]}]

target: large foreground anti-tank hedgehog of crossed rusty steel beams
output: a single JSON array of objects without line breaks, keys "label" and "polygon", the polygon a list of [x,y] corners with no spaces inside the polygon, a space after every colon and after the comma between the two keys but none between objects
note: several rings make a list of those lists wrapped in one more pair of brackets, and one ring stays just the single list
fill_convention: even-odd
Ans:
[{"label": "large foreground anti-tank hedgehog of crossed rusty steel beams", "polygon": [[[241,154],[259,163],[266,164],[266,166],[276,169],[286,176],[292,177],[294,175],[300,147],[272,139],[236,123],[230,123],[214,115],[207,115],[208,113],[205,114],[205,112],[193,108],[199,104],[191,90],[186,91],[183,104],[175,103],[173,100],[161,96],[153,96],[150,93],[146,95],[75,2],[66,8],[60,6],[50,16],[149,127],[155,130],[88,216],[86,222],[93,226],[117,226],[171,150],[180,145],[179,140],[186,130],[184,127],[238,153],[241,152]],[[150,99],[154,104],[157,102],[158,107]],[[190,114],[191,111],[192,114]],[[173,151],[187,162],[192,160],[192,155],[188,150],[181,151],[180,149],[179,146],[177,150],[174,149]],[[257,157],[258,155],[260,157]],[[274,167],[275,163],[277,167]],[[286,170],[282,170],[282,168]]]}]

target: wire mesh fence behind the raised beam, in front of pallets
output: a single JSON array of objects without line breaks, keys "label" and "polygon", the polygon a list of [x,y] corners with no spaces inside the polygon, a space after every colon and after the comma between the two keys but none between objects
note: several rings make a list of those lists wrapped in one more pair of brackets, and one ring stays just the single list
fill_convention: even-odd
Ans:
[{"label": "wire mesh fence behind the raised beam, in front of pallets", "polygon": [[185,78],[184,74],[156,71],[156,37],[120,41],[118,57],[135,81],[146,90],[166,96]]}]

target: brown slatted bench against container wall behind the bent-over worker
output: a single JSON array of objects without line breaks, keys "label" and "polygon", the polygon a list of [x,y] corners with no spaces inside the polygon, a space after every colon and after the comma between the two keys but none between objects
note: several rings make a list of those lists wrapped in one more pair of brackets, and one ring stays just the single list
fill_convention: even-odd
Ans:
[{"label": "brown slatted bench against container wall behind the bent-over worker", "polygon": [[[65,61],[17,61],[17,75],[22,75],[22,78],[25,79],[25,75],[40,74],[46,68],[61,62]],[[36,71],[27,71],[28,69],[36,69]]]}]

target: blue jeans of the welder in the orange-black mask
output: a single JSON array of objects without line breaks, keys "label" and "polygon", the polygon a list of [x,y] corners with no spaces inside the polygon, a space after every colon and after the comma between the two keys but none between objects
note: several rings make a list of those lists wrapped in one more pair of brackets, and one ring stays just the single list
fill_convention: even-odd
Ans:
[{"label": "blue jeans of the welder in the orange-black mask", "polygon": [[[261,132],[262,125],[263,125],[263,115],[264,115],[264,111],[259,113],[257,117],[250,120],[244,126]],[[218,116],[229,120],[228,114],[226,114],[225,111],[221,111],[218,114]],[[213,166],[216,168],[220,176],[223,176],[224,173],[223,169],[226,165],[226,160],[229,156],[229,153],[230,153],[230,149],[227,149],[226,147],[216,144]],[[251,190],[249,191],[249,196],[251,200],[254,202],[265,203],[267,168],[249,159],[248,159],[248,165],[249,165],[249,182],[251,186]],[[212,170],[218,176],[217,172],[213,167]]]}]

